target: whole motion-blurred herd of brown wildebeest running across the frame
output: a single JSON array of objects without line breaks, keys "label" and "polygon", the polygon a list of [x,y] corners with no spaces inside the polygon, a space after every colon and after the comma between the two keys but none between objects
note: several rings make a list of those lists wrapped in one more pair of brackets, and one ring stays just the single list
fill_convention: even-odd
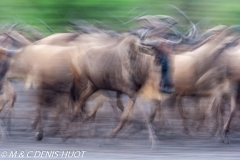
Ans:
[{"label": "whole motion-blurred herd of brown wildebeest running across the frame", "polygon": [[[191,28],[181,33],[176,29],[177,20],[170,16],[149,15],[137,20],[141,22],[138,27],[125,32],[89,25],[74,32],[35,39],[15,29],[16,24],[8,30],[2,28],[0,109],[8,106],[9,114],[13,112],[17,95],[9,80],[19,79],[25,83],[25,89],[37,90],[38,107],[32,124],[36,139],[42,140],[44,135],[45,114],[50,112],[46,108],[54,107],[57,110],[54,119],[65,119],[66,133],[62,137],[66,140],[71,136],[67,130],[73,122],[94,120],[103,102],[90,112],[85,104],[95,92],[101,91],[110,99],[116,98],[113,109],[121,111],[118,125],[108,135],[113,138],[128,122],[136,99],[142,98],[155,105],[150,114],[142,111],[154,146],[157,137],[152,122],[165,100],[177,102],[187,133],[182,98],[207,97],[213,119],[220,119],[221,138],[228,143],[240,93],[240,26],[216,26],[200,31],[191,22]],[[108,91],[116,92],[116,97]],[[123,94],[129,97],[126,104],[121,101]],[[223,124],[221,104],[226,97],[230,114]],[[199,113],[197,128],[206,114],[205,109]]]}]

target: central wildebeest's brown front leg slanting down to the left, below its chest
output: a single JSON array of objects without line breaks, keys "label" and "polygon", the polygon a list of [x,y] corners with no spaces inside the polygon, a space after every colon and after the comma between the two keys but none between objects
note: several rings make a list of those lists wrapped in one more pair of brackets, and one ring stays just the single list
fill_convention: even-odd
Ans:
[{"label": "central wildebeest's brown front leg slanting down to the left, below its chest", "polygon": [[120,122],[119,122],[118,126],[111,133],[111,137],[115,137],[117,135],[117,133],[122,129],[122,127],[124,126],[124,124],[128,120],[129,115],[131,114],[131,112],[133,110],[133,106],[134,106],[135,101],[136,101],[136,97],[130,98],[128,100],[127,105],[123,110]]}]

